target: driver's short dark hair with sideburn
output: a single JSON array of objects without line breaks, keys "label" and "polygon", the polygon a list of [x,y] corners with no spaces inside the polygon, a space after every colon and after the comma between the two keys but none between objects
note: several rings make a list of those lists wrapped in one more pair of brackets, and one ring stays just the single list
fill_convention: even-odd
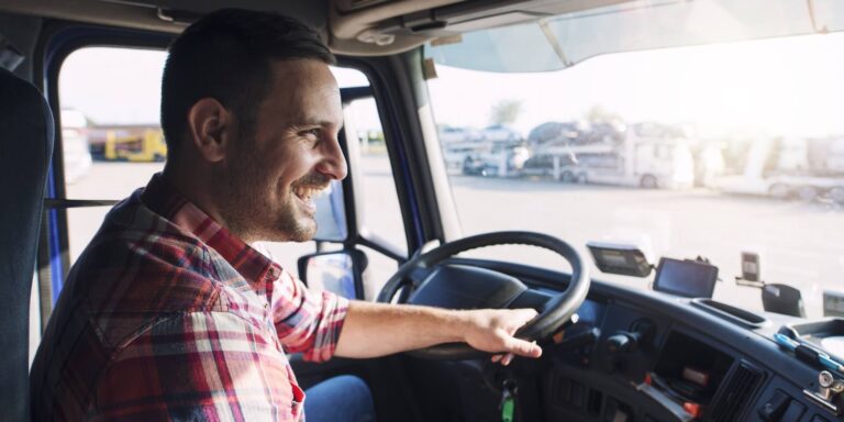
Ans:
[{"label": "driver's short dark hair with sideburn", "polygon": [[[212,12],[188,26],[169,47],[162,78],[162,129],[174,156],[188,111],[213,98],[251,133],[270,82],[271,60],[334,56],[310,26],[277,13],[241,9]],[[242,132],[244,133],[244,132]]]}]

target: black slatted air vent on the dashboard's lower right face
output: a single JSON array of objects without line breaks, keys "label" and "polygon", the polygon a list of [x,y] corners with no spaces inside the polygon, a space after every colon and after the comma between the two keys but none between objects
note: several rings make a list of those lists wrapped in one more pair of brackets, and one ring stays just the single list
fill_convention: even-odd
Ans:
[{"label": "black slatted air vent on the dashboard's lower right face", "polygon": [[721,391],[712,400],[710,417],[714,422],[737,421],[744,409],[756,393],[765,374],[745,362],[740,362],[726,380]]}]

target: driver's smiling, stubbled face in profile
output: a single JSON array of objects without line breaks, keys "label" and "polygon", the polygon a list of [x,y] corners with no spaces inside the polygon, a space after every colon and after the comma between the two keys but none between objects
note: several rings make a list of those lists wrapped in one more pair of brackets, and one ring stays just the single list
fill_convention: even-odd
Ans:
[{"label": "driver's smiling, stubbled face in profile", "polygon": [[315,59],[276,62],[270,80],[255,127],[238,129],[215,173],[220,210],[246,242],[304,242],[316,232],[314,197],[346,176],[340,89]]}]

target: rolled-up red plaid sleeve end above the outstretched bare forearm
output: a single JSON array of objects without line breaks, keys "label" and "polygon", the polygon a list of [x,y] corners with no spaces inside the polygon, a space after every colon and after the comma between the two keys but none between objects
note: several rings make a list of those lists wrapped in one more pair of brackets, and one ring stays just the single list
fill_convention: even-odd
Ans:
[{"label": "rolled-up red plaid sleeve end above the outstretched bare forearm", "polygon": [[324,362],[334,356],[348,300],[329,291],[310,291],[284,271],[273,293],[273,315],[278,338],[288,352],[306,360]]}]

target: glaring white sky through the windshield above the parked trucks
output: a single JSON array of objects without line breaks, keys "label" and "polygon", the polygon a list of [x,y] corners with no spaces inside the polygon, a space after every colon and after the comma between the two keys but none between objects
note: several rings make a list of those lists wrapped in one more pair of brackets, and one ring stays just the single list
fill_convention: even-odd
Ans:
[{"label": "glaring white sky through the windshield above the parked trucks", "polygon": [[515,129],[582,119],[592,107],[628,122],[692,125],[704,134],[844,133],[844,34],[608,54],[547,74],[437,67],[443,124],[482,127],[490,104],[521,102]]}]

